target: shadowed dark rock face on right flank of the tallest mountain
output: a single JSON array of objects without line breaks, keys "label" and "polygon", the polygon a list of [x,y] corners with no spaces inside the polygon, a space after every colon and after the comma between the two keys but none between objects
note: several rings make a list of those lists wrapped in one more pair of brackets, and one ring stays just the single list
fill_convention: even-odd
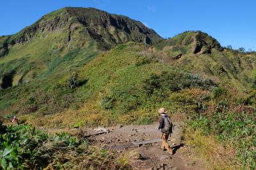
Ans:
[{"label": "shadowed dark rock face on right flank of the tallest mountain", "polygon": [[161,40],[157,33],[141,22],[121,15],[113,15],[94,8],[66,8],[71,16],[76,16],[92,35],[98,35],[108,43],[127,41],[155,43]]}]

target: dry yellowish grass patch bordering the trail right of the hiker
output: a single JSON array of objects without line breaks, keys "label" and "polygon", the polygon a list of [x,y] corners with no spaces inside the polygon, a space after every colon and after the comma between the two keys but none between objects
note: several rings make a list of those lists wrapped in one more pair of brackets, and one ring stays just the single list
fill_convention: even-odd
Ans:
[{"label": "dry yellowish grass patch bordering the trail right of the hiker", "polygon": [[237,164],[236,149],[230,143],[220,143],[213,135],[205,137],[204,132],[186,128],[184,137],[189,152],[203,160],[207,169],[241,169]]}]

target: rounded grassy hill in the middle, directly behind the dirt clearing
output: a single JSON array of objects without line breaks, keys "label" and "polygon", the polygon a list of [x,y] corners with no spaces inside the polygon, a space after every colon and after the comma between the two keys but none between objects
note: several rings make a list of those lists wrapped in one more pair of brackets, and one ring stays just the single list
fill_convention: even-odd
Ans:
[{"label": "rounded grassy hill in the middle, directly behind the dirt clearing", "polygon": [[[57,82],[45,79],[44,86],[40,81],[19,86],[17,91],[30,88],[22,93],[23,97],[18,96],[23,100],[21,108],[13,111],[23,114],[29,123],[47,127],[72,127],[77,123],[87,127],[117,123],[148,124],[157,120],[153,108],[164,104],[173,112],[177,111],[178,107],[170,101],[178,100],[180,91],[215,86],[211,80],[199,75],[175,70],[150,59],[152,56],[140,53],[143,49],[144,45],[127,43],[95,58],[77,70],[78,81],[86,80],[86,83],[74,89],[68,87],[68,75]],[[145,58],[149,58],[146,63]],[[158,83],[163,85],[154,86]],[[3,98],[17,93],[14,89],[8,90],[4,90]],[[15,102],[13,100],[14,108]],[[191,106],[191,112],[195,112],[196,103],[191,105],[195,105]],[[3,107],[6,106],[3,104]]]}]

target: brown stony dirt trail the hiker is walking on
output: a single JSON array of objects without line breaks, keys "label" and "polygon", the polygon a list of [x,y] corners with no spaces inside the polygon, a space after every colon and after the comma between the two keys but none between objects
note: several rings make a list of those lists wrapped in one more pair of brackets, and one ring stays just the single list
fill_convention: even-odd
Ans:
[{"label": "brown stony dirt trail the hiker is walking on", "polygon": [[[127,155],[134,169],[205,169],[203,162],[189,157],[187,146],[180,143],[182,123],[176,122],[172,137],[168,143],[174,154],[161,150],[161,132],[157,123],[153,125],[125,125],[108,127],[111,132],[90,137],[92,143]],[[92,128],[84,129],[86,134],[95,134]],[[152,144],[140,142],[158,141]]]}]

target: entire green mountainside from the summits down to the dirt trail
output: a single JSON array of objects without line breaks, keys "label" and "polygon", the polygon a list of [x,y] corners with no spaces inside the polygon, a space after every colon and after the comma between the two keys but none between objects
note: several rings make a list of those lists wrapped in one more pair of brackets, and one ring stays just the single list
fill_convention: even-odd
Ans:
[{"label": "entire green mountainside from the summits down to the dirt trail", "polygon": [[212,137],[235,150],[227,162],[253,169],[255,61],[255,53],[225,49],[201,31],[162,40],[124,16],[64,8],[0,37],[1,116],[96,127],[153,123],[166,107],[186,122],[185,141],[204,151],[209,141],[198,139]]}]

